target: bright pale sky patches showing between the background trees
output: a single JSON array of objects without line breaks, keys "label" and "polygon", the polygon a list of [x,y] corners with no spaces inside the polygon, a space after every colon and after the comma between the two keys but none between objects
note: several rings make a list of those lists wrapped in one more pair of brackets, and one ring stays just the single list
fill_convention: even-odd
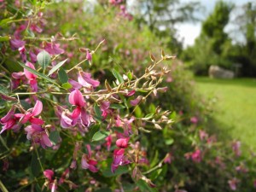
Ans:
[{"label": "bright pale sky patches showing between the background trees", "polygon": [[[181,3],[188,3],[195,0],[180,0]],[[205,7],[204,13],[202,13],[202,18],[207,18],[212,10],[214,9],[214,5],[218,0],[198,0],[202,6]],[[247,2],[252,2],[254,0],[230,0],[227,2],[235,3],[237,6],[240,6]],[[232,17],[232,15],[230,15]],[[232,25],[226,27],[226,31],[232,28]],[[195,38],[197,38],[201,32],[201,23],[184,23],[177,26],[179,39],[183,39],[183,46],[187,47],[188,45],[192,45],[195,42]]]}]

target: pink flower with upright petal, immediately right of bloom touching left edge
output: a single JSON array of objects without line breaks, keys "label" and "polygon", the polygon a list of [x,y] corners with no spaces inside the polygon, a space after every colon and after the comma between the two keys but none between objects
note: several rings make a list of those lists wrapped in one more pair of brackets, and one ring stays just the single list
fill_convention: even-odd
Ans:
[{"label": "pink flower with upright petal, immediately right of bloom touching left edge", "polygon": [[27,121],[30,121],[32,124],[43,125],[44,120],[35,118],[35,116],[38,116],[42,112],[42,110],[43,110],[43,103],[37,100],[34,108],[28,109],[25,114],[16,113],[15,117],[20,118],[20,122],[22,124],[26,124]]}]

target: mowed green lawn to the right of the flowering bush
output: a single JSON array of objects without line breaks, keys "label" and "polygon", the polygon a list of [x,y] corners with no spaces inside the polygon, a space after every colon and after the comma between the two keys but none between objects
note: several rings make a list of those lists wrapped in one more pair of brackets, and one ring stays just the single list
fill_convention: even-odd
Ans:
[{"label": "mowed green lawn to the right of the flowering bush", "polygon": [[209,99],[216,98],[213,116],[220,137],[244,143],[256,151],[256,79],[195,78],[196,87]]}]

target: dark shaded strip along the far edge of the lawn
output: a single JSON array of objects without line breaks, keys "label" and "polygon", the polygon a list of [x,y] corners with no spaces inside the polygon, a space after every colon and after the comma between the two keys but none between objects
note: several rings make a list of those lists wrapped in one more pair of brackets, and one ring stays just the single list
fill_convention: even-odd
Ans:
[{"label": "dark shaded strip along the far edge of the lawn", "polygon": [[208,77],[195,77],[195,81],[203,84],[226,84],[256,88],[256,79],[210,79]]}]

